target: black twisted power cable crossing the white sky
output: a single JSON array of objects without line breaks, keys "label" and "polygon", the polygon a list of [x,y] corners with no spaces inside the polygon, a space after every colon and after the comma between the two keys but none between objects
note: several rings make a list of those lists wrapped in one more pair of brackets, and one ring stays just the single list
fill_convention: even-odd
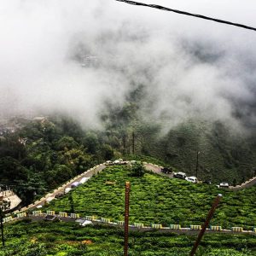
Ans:
[{"label": "black twisted power cable crossing the white sky", "polygon": [[138,6],[146,6],[146,7],[150,7],[150,8],[154,8],[154,9],[160,9],[160,10],[164,10],[164,11],[168,11],[168,12],[177,13],[179,15],[193,16],[195,18],[204,19],[204,20],[212,20],[212,21],[215,21],[215,22],[218,22],[218,23],[223,23],[223,24],[227,24],[227,25],[231,25],[231,26],[239,26],[241,28],[256,31],[256,28],[253,27],[253,26],[246,26],[246,25],[243,25],[243,24],[234,23],[234,22],[230,22],[230,21],[227,21],[227,20],[218,20],[218,19],[211,18],[211,17],[205,16],[205,15],[195,15],[195,14],[191,14],[189,12],[184,12],[184,11],[177,10],[177,9],[170,9],[170,8],[160,6],[160,5],[157,5],[157,4],[139,3],[139,2],[127,1],[127,0],[115,0],[115,1],[124,2],[124,3],[132,4],[132,5],[138,5]]}]

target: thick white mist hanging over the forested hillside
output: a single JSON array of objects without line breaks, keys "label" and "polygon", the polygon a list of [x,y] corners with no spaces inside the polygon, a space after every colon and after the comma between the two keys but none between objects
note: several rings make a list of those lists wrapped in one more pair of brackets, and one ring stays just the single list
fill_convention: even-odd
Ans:
[{"label": "thick white mist hanging over the forested hillside", "polygon": [[[156,3],[144,1],[145,3]],[[157,1],[256,26],[256,3]],[[256,125],[256,32],[110,0],[0,5],[0,113],[65,113],[101,127],[143,84],[143,119]]]}]

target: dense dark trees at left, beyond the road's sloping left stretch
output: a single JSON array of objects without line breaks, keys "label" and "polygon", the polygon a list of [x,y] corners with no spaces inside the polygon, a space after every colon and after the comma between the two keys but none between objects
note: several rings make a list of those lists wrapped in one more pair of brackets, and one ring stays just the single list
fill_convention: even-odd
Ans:
[{"label": "dense dark trees at left, beyond the road's sloping left stretch", "polygon": [[15,184],[24,203],[113,158],[112,148],[96,134],[67,118],[28,121],[19,131],[0,138],[1,183]]}]

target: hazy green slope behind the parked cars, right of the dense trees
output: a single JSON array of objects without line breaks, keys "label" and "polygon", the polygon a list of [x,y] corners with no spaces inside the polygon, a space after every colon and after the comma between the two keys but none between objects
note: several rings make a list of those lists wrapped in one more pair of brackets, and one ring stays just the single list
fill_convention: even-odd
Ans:
[{"label": "hazy green slope behind the parked cars, right of the dense trees", "polygon": [[[143,110],[142,110],[143,109]],[[256,174],[256,134],[231,131],[220,121],[187,119],[166,125],[167,119],[153,120],[144,114],[154,111],[145,102],[143,86],[132,90],[121,108],[108,106],[102,114],[105,141],[122,154],[143,154],[166,165],[213,182],[242,183]],[[252,128],[252,127],[251,127]]]}]

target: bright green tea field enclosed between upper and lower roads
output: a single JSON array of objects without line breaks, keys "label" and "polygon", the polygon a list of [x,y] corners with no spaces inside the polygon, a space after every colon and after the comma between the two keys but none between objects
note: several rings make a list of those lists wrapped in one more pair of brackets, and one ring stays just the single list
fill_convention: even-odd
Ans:
[{"label": "bright green tea field enclosed between upper and lower roads", "polygon": [[[160,177],[147,172],[134,177],[129,166],[109,166],[89,182],[73,190],[73,206],[82,216],[123,220],[125,181],[131,182],[131,223],[202,224],[212,201],[222,193],[223,199],[212,224],[224,228],[241,226],[252,230],[256,223],[256,187],[233,192],[214,185],[193,184]],[[50,210],[69,212],[69,195],[52,201]]]}]

